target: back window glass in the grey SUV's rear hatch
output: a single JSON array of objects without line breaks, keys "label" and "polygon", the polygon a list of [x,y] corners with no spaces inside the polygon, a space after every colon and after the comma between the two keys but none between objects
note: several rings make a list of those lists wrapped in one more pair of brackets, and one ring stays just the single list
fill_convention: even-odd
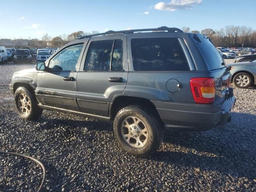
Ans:
[{"label": "back window glass in the grey SUV's rear hatch", "polygon": [[204,35],[202,34],[197,34],[197,36],[200,38],[202,42],[198,42],[195,39],[194,40],[196,41],[200,50],[202,51],[210,70],[224,68],[225,66],[222,65],[224,60],[222,59],[222,57],[220,56],[220,53],[212,44],[210,39],[204,38]]}]

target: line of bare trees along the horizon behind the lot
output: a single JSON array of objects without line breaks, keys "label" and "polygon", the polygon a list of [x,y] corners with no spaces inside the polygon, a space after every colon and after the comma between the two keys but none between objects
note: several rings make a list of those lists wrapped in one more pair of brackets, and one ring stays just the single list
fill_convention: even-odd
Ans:
[{"label": "line of bare trees along the horizon behind the lot", "polygon": [[[192,33],[200,33],[205,34],[208,36],[214,45],[217,47],[253,47],[256,48],[256,30],[252,30],[251,27],[247,26],[234,26],[228,25],[220,30],[213,30],[211,28],[206,28],[202,31],[198,30],[190,30],[190,27],[182,27],[184,32],[192,32]],[[68,42],[74,41],[79,39],[82,36],[89,35],[89,34],[98,34],[98,31],[92,32],[83,32],[78,31],[71,33],[69,35],[62,34],[52,38],[47,33],[42,37],[41,40],[39,39],[0,39],[0,45],[6,47],[51,47],[51,48],[58,48],[61,47]]]}]

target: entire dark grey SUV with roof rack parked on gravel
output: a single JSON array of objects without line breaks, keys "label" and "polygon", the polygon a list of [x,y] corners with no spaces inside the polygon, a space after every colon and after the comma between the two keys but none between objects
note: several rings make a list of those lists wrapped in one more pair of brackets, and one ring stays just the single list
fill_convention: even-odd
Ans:
[{"label": "entire dark grey SUV with roof rack parked on gravel", "polygon": [[178,28],[108,31],[70,42],[10,84],[18,114],[43,109],[114,122],[122,148],[155,152],[164,130],[203,131],[231,120],[230,68],[211,40]]}]

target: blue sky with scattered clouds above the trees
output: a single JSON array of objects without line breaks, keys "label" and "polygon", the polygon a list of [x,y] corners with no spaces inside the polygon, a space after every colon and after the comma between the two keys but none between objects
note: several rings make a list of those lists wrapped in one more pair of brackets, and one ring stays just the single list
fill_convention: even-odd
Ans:
[{"label": "blue sky with scattered clouds above the trees", "polygon": [[256,0],[12,0],[0,3],[0,38],[51,37],[82,30],[160,26],[256,30]]}]

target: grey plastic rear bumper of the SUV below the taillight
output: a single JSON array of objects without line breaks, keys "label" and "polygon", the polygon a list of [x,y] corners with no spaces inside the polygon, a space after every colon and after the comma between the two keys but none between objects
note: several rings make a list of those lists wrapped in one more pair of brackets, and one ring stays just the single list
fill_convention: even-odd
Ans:
[{"label": "grey plastic rear bumper of the SUV below the taillight", "polygon": [[169,130],[203,131],[230,122],[236,98],[233,89],[221,104],[152,101]]}]

